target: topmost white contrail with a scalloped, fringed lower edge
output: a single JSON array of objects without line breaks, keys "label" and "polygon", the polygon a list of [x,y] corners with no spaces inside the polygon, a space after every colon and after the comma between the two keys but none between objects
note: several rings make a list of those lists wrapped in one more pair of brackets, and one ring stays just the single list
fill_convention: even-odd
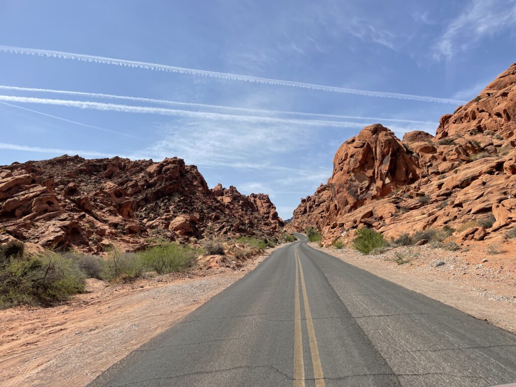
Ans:
[{"label": "topmost white contrail with a scalloped, fringed lower edge", "polygon": [[316,85],[316,84],[304,83],[304,82],[294,82],[291,80],[262,78],[262,77],[256,77],[256,76],[250,76],[250,75],[240,75],[240,74],[231,74],[231,73],[221,73],[221,72],[217,72],[217,71],[188,69],[188,68],[184,68],[184,67],[160,65],[159,63],[140,62],[140,61],[135,61],[135,60],[115,59],[115,58],[107,58],[107,57],[102,57],[102,56],[84,55],[84,54],[74,54],[74,53],[67,53],[67,52],[62,52],[62,51],[28,49],[26,47],[14,47],[14,46],[0,45],[0,52],[6,52],[6,53],[12,53],[12,54],[38,55],[38,56],[46,56],[46,57],[60,58],[60,59],[72,59],[72,60],[80,60],[83,62],[104,63],[106,65],[133,67],[133,68],[140,68],[140,69],[152,70],[152,71],[163,71],[163,72],[170,72],[170,73],[207,76],[207,77],[219,78],[219,79],[225,79],[225,80],[239,80],[239,81],[243,81],[243,82],[259,83],[259,84],[264,84],[264,85],[297,87],[297,88],[301,88],[301,89],[310,89],[310,90],[319,90],[319,91],[333,91],[333,92],[337,92],[337,93],[374,96],[374,97],[380,97],[380,98],[396,98],[396,99],[400,99],[400,100],[437,102],[437,103],[459,104],[459,105],[462,105],[466,102],[466,101],[459,101],[459,100],[447,99],[447,98],[436,98],[436,97],[425,96],[425,95],[413,95],[413,94],[390,93],[390,92],[385,92],[385,91],[369,91],[369,90],[349,89],[349,88],[344,88],[344,87],[334,87],[334,86]]}]

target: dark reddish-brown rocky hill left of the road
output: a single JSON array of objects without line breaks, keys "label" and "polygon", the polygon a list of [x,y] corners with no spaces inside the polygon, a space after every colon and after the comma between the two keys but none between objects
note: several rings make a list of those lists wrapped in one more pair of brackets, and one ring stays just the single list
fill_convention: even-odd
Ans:
[{"label": "dark reddish-brown rocky hill left of the road", "polygon": [[138,250],[149,237],[273,235],[267,195],[209,189],[180,158],[132,161],[61,156],[0,167],[0,235],[51,249]]}]

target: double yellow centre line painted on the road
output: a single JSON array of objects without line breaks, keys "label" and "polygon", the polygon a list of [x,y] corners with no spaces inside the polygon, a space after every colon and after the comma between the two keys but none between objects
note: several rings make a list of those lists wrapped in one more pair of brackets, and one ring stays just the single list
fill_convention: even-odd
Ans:
[{"label": "double yellow centre line painted on the road", "polygon": [[315,387],[325,387],[324,376],[322,375],[321,360],[319,358],[319,348],[312,321],[312,312],[308,303],[307,288],[304,284],[303,266],[299,259],[297,248],[294,247],[296,257],[296,295],[294,300],[294,387],[304,386],[304,363],[303,363],[303,337],[301,332],[301,301],[299,295],[299,278],[301,278],[301,291],[304,302],[304,315],[307,322],[308,342],[310,344],[310,354],[312,356],[312,366],[314,369]]}]

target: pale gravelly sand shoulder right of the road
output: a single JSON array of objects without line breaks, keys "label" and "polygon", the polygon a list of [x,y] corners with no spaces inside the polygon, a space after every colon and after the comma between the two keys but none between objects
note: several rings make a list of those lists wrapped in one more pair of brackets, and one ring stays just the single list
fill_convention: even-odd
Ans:
[{"label": "pale gravelly sand shoulder right of the road", "polygon": [[[516,333],[516,245],[489,254],[487,241],[464,243],[460,251],[428,246],[399,247],[379,255],[356,250],[311,247],[378,277],[441,301],[451,307]],[[409,261],[398,265],[393,260]]]}]

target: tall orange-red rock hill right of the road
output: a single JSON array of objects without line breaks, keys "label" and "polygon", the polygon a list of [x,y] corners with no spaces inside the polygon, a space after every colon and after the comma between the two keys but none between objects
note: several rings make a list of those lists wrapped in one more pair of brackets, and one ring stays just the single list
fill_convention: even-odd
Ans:
[{"label": "tall orange-red rock hill right of the road", "polygon": [[380,124],[365,127],[337,150],[328,183],[301,199],[286,228],[314,225],[324,244],[360,227],[396,237],[468,223],[457,240],[501,236],[516,225],[515,133],[516,63],[444,115],[436,136],[399,141]]}]

